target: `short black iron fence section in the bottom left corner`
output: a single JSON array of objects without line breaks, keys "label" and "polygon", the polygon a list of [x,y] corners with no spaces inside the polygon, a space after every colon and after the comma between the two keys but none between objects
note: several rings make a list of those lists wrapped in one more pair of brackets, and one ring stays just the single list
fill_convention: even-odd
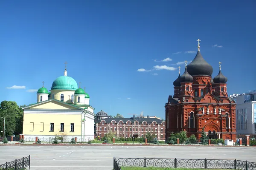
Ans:
[{"label": "short black iron fence section in the bottom left corner", "polygon": [[0,165],[0,170],[23,170],[25,167],[29,167],[30,170],[30,155],[21,159],[15,159],[15,161],[6,162]]}]

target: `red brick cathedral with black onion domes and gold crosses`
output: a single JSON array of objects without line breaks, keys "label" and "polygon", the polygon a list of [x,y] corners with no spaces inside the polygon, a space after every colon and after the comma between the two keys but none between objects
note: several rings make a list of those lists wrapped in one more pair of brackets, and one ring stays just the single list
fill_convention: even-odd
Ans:
[{"label": "red brick cathedral with black onion domes and gold crosses", "polygon": [[166,108],[166,140],[170,133],[186,130],[198,139],[204,130],[210,139],[236,141],[236,103],[227,95],[227,78],[220,71],[212,79],[212,66],[198,52],[173,82],[174,95]]}]

